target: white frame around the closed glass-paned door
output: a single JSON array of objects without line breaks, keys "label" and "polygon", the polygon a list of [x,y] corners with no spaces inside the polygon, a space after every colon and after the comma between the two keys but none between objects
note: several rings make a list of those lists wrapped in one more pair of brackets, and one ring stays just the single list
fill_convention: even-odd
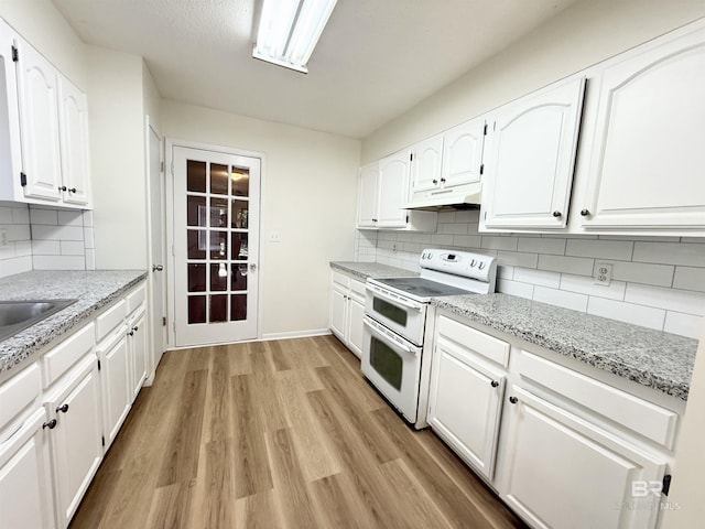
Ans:
[{"label": "white frame around the closed glass-paned door", "polygon": [[259,199],[259,206],[260,206],[260,229],[259,229],[259,257],[258,257],[258,273],[256,274],[257,277],[257,291],[258,291],[258,307],[257,307],[257,339],[261,338],[262,336],[262,273],[264,270],[264,259],[263,259],[263,247],[262,247],[262,242],[263,242],[263,238],[262,238],[262,222],[261,219],[263,218],[263,209],[262,209],[262,203],[263,201],[263,196],[264,196],[264,173],[265,173],[265,159],[264,159],[264,153],[263,152],[258,152],[258,151],[247,151],[245,149],[234,149],[230,147],[223,147],[223,145],[214,145],[214,144],[209,144],[209,143],[200,143],[197,141],[188,141],[188,140],[180,140],[180,139],[174,139],[174,138],[166,138],[165,141],[165,154],[166,154],[166,162],[165,162],[165,173],[166,173],[166,209],[165,209],[165,214],[166,214],[166,249],[167,249],[167,255],[166,255],[166,262],[167,262],[167,271],[169,273],[166,274],[166,281],[167,281],[167,287],[166,287],[166,291],[169,292],[170,295],[167,295],[169,298],[169,325],[167,325],[167,335],[169,335],[169,349],[189,349],[193,348],[191,346],[185,346],[185,347],[177,347],[175,345],[176,343],[176,333],[175,333],[175,328],[176,328],[176,321],[175,321],[175,313],[176,313],[176,282],[175,282],[175,278],[174,278],[174,270],[175,268],[175,259],[174,259],[174,156],[173,156],[173,152],[174,152],[174,148],[175,147],[184,147],[187,149],[198,149],[202,151],[213,151],[213,152],[219,152],[219,153],[224,153],[224,154],[232,154],[236,156],[249,156],[249,158],[257,158],[260,160],[260,199]]}]

